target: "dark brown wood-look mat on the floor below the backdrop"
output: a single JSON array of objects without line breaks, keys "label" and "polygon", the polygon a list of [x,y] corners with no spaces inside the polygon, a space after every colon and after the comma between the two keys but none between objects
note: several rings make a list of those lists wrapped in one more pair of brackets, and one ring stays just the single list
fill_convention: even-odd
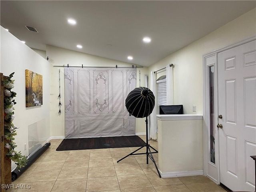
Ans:
[{"label": "dark brown wood-look mat on the floor below the backdrop", "polygon": [[139,136],[64,139],[56,151],[140,147],[146,144]]}]

